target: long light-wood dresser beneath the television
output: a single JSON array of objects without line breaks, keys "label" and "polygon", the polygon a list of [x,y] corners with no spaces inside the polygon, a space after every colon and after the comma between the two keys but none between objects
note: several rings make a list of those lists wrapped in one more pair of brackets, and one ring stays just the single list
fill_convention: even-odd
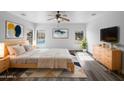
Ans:
[{"label": "long light-wood dresser beneath the television", "polygon": [[121,51],[119,49],[94,46],[93,57],[109,70],[121,72]]}]

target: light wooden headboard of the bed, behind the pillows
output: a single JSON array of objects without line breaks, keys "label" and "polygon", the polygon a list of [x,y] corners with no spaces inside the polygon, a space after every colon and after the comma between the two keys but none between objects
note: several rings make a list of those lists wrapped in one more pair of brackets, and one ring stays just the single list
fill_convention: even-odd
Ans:
[{"label": "light wooden headboard of the bed, behind the pillows", "polygon": [[5,56],[9,55],[7,46],[12,46],[12,45],[17,45],[17,44],[29,44],[28,40],[5,40],[4,41],[5,44]]}]

